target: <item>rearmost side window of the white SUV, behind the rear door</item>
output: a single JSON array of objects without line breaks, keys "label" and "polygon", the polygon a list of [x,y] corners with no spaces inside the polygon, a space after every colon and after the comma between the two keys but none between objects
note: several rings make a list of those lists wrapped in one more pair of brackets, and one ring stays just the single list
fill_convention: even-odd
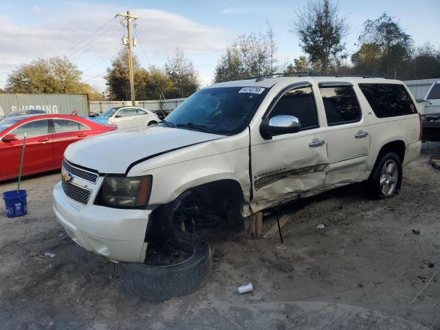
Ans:
[{"label": "rearmost side window of the white SUV, behind the rear door", "polygon": [[404,85],[359,84],[377,118],[417,113],[414,102]]}]

